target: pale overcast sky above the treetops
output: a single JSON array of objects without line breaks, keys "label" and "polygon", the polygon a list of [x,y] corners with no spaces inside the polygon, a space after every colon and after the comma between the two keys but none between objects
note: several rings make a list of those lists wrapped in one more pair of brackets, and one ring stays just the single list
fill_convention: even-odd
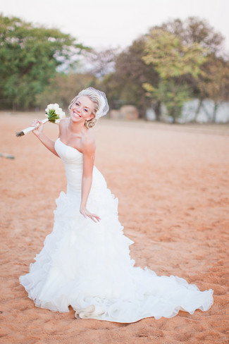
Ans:
[{"label": "pale overcast sky above the treetops", "polygon": [[229,51],[228,0],[0,0],[0,12],[57,27],[97,49],[123,49],[154,25],[198,16],[225,36]]}]

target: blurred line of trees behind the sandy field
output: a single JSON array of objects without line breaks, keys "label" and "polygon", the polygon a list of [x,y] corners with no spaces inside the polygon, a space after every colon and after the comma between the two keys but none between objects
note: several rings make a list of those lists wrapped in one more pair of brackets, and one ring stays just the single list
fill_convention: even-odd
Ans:
[{"label": "blurred line of trees behind the sandy field", "polygon": [[[195,17],[152,27],[123,51],[97,51],[57,29],[35,27],[0,16],[0,106],[43,109],[49,102],[66,108],[84,87],[106,92],[112,109],[133,104],[144,117],[161,104],[176,121],[182,106],[198,99],[229,100],[229,56],[223,36]],[[194,119],[195,119],[194,118]]]}]

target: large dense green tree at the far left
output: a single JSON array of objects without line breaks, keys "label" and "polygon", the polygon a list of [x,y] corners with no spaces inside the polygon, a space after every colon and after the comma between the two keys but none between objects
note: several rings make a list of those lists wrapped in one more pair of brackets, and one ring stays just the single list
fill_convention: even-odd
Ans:
[{"label": "large dense green tree at the far left", "polygon": [[0,94],[18,108],[35,106],[56,68],[68,70],[85,47],[57,29],[0,15]]}]

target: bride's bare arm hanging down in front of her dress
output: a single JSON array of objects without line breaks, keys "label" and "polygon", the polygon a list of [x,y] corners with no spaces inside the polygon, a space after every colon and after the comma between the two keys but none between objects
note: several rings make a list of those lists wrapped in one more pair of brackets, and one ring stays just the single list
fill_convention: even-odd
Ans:
[{"label": "bride's bare arm hanging down in front of her dress", "polygon": [[100,221],[99,216],[92,214],[87,210],[87,199],[92,186],[92,173],[94,167],[94,154],[95,145],[94,140],[87,138],[87,141],[83,145],[83,171],[82,171],[82,192],[81,192],[81,204],[80,213],[89,217],[94,222]]}]

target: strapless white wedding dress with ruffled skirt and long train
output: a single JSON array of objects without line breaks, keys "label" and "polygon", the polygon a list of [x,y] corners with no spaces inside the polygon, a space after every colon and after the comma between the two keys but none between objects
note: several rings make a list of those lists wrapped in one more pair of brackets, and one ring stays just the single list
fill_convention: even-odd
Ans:
[{"label": "strapless white wedding dress with ruffled skirt and long train", "polygon": [[199,291],[183,278],[134,266],[129,250],[133,241],[118,221],[118,199],[96,167],[87,209],[101,221],[80,214],[82,153],[60,138],[55,149],[66,168],[67,192],[56,199],[53,231],[30,264],[30,273],[20,276],[35,305],[54,312],[68,312],[71,306],[76,317],[120,323],[208,310],[213,290]]}]

